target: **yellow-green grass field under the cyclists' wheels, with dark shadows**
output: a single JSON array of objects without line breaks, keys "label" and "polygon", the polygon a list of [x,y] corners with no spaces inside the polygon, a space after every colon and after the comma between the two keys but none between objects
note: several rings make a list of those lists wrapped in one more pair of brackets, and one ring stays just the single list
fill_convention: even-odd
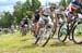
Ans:
[{"label": "yellow-green grass field under the cyclists' wheels, with dark shadows", "polygon": [[82,53],[82,45],[67,40],[65,43],[51,39],[45,48],[34,45],[33,36],[20,34],[0,36],[0,53]]}]

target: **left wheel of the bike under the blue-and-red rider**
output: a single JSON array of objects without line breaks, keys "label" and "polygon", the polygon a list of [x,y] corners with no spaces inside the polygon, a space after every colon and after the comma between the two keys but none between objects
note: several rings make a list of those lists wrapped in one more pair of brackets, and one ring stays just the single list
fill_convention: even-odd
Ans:
[{"label": "left wheel of the bike under the blue-and-red rider", "polygon": [[67,26],[65,24],[61,24],[58,30],[58,40],[65,42],[66,39],[67,39]]}]

